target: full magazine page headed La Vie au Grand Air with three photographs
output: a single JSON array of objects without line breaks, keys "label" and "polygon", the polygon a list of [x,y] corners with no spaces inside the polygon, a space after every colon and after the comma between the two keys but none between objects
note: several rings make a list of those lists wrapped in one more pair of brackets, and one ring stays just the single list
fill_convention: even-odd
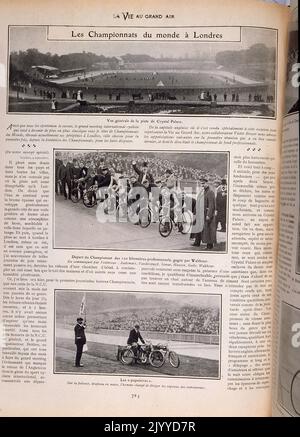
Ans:
[{"label": "full magazine page headed La Vie au Grand Air with three photographs", "polygon": [[0,414],[270,415],[288,8],[1,10]]}]

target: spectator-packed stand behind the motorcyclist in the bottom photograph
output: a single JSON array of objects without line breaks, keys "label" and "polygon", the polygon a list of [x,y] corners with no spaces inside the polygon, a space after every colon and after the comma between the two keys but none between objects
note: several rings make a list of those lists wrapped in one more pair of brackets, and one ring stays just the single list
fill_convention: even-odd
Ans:
[{"label": "spectator-packed stand behind the motorcyclist in the bottom photograph", "polygon": [[[74,324],[74,313],[69,310],[64,311],[62,302],[69,299],[70,294],[59,294],[57,297],[57,322],[61,326],[71,327]],[[78,301],[80,296],[74,294],[72,299]],[[102,296],[88,296],[88,300],[93,302],[91,311],[89,311],[89,330],[94,333],[103,333],[104,331],[116,331],[124,334],[138,321],[141,329],[148,335],[160,334],[159,337],[173,339],[185,339],[186,341],[204,341],[206,336],[218,339],[220,334],[220,310],[217,305],[218,299],[213,299],[213,304],[207,302],[201,305],[201,298],[195,296],[191,300],[190,296],[185,299],[182,296],[176,299],[176,295],[164,297],[150,297],[143,294],[141,297],[132,296],[128,293],[123,298],[118,295],[103,293]],[[171,300],[170,300],[171,299]],[[189,303],[189,300],[191,302]],[[198,300],[198,302],[197,302]],[[122,301],[122,304],[116,308],[116,305]],[[187,302],[187,303],[185,303]],[[105,309],[103,309],[103,305]],[[201,305],[201,306],[200,306]],[[70,303],[68,304],[68,309]],[[73,302],[71,303],[73,307]],[[75,306],[74,312],[76,314]],[[174,335],[173,335],[174,334]],[[176,336],[176,334],[179,334]],[[187,334],[187,335],[181,335]],[[197,337],[198,335],[198,337]]]}]

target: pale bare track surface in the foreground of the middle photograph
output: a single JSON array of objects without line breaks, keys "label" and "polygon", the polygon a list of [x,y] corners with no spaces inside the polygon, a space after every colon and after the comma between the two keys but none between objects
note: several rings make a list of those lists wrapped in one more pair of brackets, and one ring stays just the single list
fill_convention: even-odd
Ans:
[{"label": "pale bare track surface in the foreground of the middle photograph", "polygon": [[[132,223],[100,223],[96,217],[96,208],[86,208],[82,202],[75,204],[56,195],[54,246],[119,250],[206,250],[205,244],[193,247],[189,234],[182,235],[177,230],[163,238],[158,232],[158,223],[151,223],[146,229]],[[113,218],[103,217],[103,214],[98,217]],[[217,232],[217,241],[213,251],[225,251],[226,233]]]}]

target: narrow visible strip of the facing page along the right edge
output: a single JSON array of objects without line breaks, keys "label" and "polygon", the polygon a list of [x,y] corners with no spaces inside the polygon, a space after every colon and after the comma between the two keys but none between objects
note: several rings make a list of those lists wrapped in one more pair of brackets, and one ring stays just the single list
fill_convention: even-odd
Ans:
[{"label": "narrow visible strip of the facing page along the right edge", "polygon": [[300,218],[298,2],[292,19],[286,75],[281,163],[280,230],[276,308],[279,341],[275,362],[274,414],[300,416]]}]

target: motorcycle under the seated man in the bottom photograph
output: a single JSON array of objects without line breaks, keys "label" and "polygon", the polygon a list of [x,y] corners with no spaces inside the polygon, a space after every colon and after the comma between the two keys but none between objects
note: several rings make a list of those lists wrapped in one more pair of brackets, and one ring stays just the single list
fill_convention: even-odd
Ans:
[{"label": "motorcycle under the seated man in the bottom photograph", "polygon": [[133,363],[149,363],[151,366],[159,368],[164,364],[163,353],[160,350],[155,350],[151,342],[138,345],[136,354],[131,345],[125,346],[119,351],[118,356],[121,363],[127,366]]}]

